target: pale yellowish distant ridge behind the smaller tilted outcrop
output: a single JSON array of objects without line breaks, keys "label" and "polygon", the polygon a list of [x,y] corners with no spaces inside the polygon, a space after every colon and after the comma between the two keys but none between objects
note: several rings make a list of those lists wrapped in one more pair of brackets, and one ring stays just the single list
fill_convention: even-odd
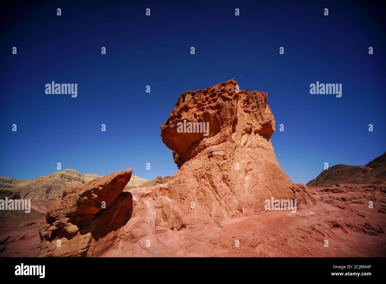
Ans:
[{"label": "pale yellowish distant ridge behind the smaller tilted outcrop", "polygon": [[[0,177],[0,196],[20,196],[22,199],[32,201],[46,201],[59,199],[63,190],[69,186],[79,186],[93,179],[100,178],[97,174],[82,174],[74,169],[65,169],[47,176],[35,179],[14,179],[12,177]],[[127,187],[137,187],[148,182],[147,179],[132,176]]]}]

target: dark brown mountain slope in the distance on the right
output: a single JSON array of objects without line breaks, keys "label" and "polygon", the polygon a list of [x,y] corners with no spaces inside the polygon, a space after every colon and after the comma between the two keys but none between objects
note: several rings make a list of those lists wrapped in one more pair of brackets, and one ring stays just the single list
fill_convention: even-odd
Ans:
[{"label": "dark brown mountain slope in the distance on the right", "polygon": [[306,185],[322,187],[343,183],[368,184],[380,179],[386,179],[386,152],[365,166],[339,164],[329,167]]}]

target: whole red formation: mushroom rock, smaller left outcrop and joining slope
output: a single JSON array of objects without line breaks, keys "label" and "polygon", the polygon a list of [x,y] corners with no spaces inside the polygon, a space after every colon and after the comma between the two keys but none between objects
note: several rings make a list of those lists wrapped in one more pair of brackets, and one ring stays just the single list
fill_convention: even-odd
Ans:
[{"label": "whole red formation: mushroom rock, smaller left outcrop and joining slope", "polygon": [[[130,179],[118,178],[122,172],[66,189],[47,213],[41,255],[212,255],[208,247],[220,243],[224,226],[263,212],[266,199],[312,204],[306,186],[292,183],[278,164],[266,100],[266,93],[238,90],[234,79],[183,93],[161,125],[178,172],[130,193],[122,192]],[[179,122],[208,128],[181,132]]]}]

